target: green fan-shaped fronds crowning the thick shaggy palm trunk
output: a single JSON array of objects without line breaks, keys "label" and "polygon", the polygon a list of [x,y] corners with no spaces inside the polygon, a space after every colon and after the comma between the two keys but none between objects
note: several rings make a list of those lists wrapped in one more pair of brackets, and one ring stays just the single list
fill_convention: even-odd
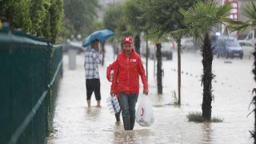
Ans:
[{"label": "green fan-shaped fronds crowning the thick shaggy palm trunk", "polygon": [[188,10],[180,10],[184,15],[184,24],[189,26],[190,34],[194,38],[203,38],[209,33],[213,27],[217,27],[222,22],[222,17],[226,17],[231,13],[232,6],[226,4],[219,6],[217,2],[199,1]]}]

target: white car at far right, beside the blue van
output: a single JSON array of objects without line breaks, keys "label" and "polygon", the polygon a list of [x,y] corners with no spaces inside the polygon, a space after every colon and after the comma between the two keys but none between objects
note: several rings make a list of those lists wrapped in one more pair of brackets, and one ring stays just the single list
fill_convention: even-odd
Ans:
[{"label": "white car at far right, beside the blue van", "polygon": [[243,56],[245,58],[252,58],[254,52],[254,44],[247,40],[238,40],[239,45],[242,46]]}]

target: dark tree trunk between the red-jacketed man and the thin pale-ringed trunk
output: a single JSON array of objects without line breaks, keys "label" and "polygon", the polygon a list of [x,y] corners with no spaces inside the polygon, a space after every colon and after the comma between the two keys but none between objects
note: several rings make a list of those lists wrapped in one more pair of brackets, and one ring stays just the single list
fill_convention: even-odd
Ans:
[{"label": "dark tree trunk between the red-jacketed man and the thin pale-ringed trunk", "polygon": [[157,81],[158,81],[158,94],[162,94],[162,54],[161,54],[161,44],[157,43]]}]

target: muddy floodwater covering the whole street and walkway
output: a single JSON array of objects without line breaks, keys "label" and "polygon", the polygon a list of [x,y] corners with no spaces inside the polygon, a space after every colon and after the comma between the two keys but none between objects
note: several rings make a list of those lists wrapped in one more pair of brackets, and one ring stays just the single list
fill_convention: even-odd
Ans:
[{"label": "muddy floodwater covering the whole street and walkway", "polygon": [[[56,102],[53,132],[50,144],[83,143],[253,143],[249,130],[254,129],[254,114],[247,117],[253,106],[251,90],[255,86],[251,74],[253,61],[249,59],[214,58],[214,102],[212,116],[223,118],[220,123],[188,122],[190,112],[202,112],[202,57],[194,53],[182,54],[182,106],[170,105],[177,93],[177,54],[173,61],[163,59],[163,94],[157,94],[154,62],[149,62],[150,101],[154,105],[154,124],[142,127],[135,123],[134,130],[124,131],[122,122],[116,123],[114,114],[106,107],[110,82],[106,80],[106,66],[113,61],[112,48],[106,47],[106,65],[100,66],[102,107],[86,107],[86,86],[83,55],[77,56],[76,70],[68,70],[64,55],[64,76]],[[146,62],[145,59],[142,59]],[[142,86],[141,86],[142,91]],[[142,98],[139,94],[138,103]],[[138,106],[137,103],[137,106]]]}]

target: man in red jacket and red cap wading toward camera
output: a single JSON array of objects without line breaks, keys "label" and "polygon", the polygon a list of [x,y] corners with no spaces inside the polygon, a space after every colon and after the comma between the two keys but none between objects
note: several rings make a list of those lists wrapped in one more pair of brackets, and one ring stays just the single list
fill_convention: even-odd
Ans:
[{"label": "man in red jacket and red cap wading toward camera", "polygon": [[122,110],[122,122],[125,130],[133,130],[135,123],[135,106],[138,100],[139,75],[143,83],[143,94],[148,94],[147,79],[142,59],[134,50],[133,38],[122,40],[123,49],[116,60],[110,94],[118,90]]}]

